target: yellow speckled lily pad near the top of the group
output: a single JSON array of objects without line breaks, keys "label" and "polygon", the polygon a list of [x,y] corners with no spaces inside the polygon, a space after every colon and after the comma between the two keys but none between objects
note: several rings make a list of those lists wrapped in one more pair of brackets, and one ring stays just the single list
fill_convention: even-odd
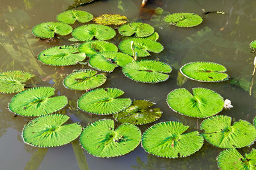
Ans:
[{"label": "yellow speckled lily pad near the top of the group", "polygon": [[97,24],[102,25],[123,25],[127,22],[127,17],[118,14],[104,14],[93,19]]}]

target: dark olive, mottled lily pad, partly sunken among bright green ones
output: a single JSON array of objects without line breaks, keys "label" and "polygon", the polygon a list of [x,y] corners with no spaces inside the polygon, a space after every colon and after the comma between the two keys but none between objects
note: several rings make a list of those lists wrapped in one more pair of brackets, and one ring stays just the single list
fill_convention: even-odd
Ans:
[{"label": "dark olive, mottled lily pad, partly sunken among bright green ones", "polygon": [[118,122],[134,125],[143,125],[155,122],[162,116],[160,108],[151,108],[154,103],[150,101],[133,101],[129,108],[113,115]]}]

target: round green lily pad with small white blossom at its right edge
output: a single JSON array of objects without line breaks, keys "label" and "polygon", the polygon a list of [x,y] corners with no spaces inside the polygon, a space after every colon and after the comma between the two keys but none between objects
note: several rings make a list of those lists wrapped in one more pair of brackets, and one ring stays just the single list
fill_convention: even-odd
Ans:
[{"label": "round green lily pad with small white blossom at its right edge", "polygon": [[182,115],[207,118],[223,110],[224,100],[220,94],[205,88],[193,88],[193,94],[186,89],[175,89],[167,96],[170,108]]}]

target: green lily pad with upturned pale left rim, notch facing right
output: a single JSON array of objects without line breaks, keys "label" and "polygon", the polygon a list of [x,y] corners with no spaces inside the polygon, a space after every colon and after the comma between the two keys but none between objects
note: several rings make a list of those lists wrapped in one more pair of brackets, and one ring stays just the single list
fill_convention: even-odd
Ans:
[{"label": "green lily pad with upturned pale left rim, notch facing right", "polygon": [[227,69],[214,62],[189,62],[180,68],[180,73],[191,80],[219,82],[228,80]]}]

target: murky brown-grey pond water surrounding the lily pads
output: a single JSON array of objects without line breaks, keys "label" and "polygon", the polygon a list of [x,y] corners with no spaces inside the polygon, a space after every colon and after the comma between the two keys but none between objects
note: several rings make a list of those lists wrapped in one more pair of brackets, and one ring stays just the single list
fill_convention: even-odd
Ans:
[{"label": "murky brown-grey pond water surrounding the lily pads", "polygon": [[[63,77],[74,69],[89,66],[52,67],[36,60],[42,50],[56,45],[67,45],[65,39],[56,43],[45,43],[31,34],[31,28],[41,22],[54,21],[56,15],[70,8],[72,0],[1,0],[0,6],[0,71],[19,69],[36,75],[28,87],[49,86],[58,94],[68,97],[68,106],[58,113],[67,113],[73,122],[88,125],[101,118],[77,110],[76,101],[84,92],[65,89]],[[228,115],[233,120],[252,122],[255,117],[256,89],[250,96],[250,82],[255,55],[250,52],[249,43],[255,39],[256,1],[253,0],[148,0],[141,9],[140,0],[105,0],[79,6],[77,10],[88,11],[93,16],[106,13],[125,15],[130,21],[148,23],[159,33],[159,43],[163,52],[152,54],[148,59],[160,60],[173,67],[170,78],[163,83],[136,83],[124,76],[120,68],[108,75],[102,87],[116,87],[124,90],[124,97],[147,99],[157,103],[163,117],[157,122],[180,121],[189,125],[188,131],[198,130],[202,120],[189,118],[168,108],[167,94],[180,87],[191,91],[193,87],[205,87],[230,99],[234,108],[223,110],[220,115]],[[153,14],[157,7],[163,8],[163,15]],[[182,29],[166,26],[163,17],[173,12],[192,12],[202,15],[207,11],[225,11],[225,15],[205,15],[204,22],[196,27]],[[78,25],[75,25],[77,27]],[[69,36],[65,37],[69,38]],[[118,43],[120,36],[111,40]],[[221,83],[200,83],[184,79],[179,68],[192,61],[212,61],[223,64],[228,69],[230,80]],[[222,149],[204,146],[186,158],[163,159],[146,153],[141,146],[134,152],[111,159],[100,159],[81,149],[78,141],[56,148],[35,148],[26,145],[20,138],[24,124],[31,118],[13,117],[6,107],[13,94],[0,94],[0,169],[218,169],[216,157]],[[142,132],[153,124],[140,126]],[[252,145],[251,148],[255,148]],[[245,147],[240,151],[246,152]]]}]

